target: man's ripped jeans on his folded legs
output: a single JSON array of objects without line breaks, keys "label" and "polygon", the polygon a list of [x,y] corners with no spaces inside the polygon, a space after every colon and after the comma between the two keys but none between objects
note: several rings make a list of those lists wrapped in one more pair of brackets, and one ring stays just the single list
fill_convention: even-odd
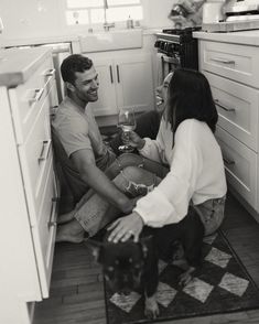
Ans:
[{"label": "man's ripped jeans on his folded legs", "polygon": [[[107,170],[110,179],[117,174],[112,180],[115,185],[132,198],[145,195],[160,183],[166,172],[168,169],[162,164],[131,153],[119,156]],[[76,205],[74,217],[91,237],[110,222],[106,218],[109,206],[106,199],[90,190]]]}]

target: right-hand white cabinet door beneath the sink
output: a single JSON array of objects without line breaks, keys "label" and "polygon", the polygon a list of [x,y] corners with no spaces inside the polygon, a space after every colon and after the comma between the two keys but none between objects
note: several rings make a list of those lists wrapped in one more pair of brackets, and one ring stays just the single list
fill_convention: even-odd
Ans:
[{"label": "right-hand white cabinet door beneath the sink", "polygon": [[153,109],[153,78],[150,54],[115,58],[117,102],[119,109]]}]

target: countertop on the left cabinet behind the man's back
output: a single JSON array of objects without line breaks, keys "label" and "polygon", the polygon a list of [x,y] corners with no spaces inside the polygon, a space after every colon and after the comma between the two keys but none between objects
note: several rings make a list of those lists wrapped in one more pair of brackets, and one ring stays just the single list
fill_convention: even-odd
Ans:
[{"label": "countertop on the left cabinet behind the man's back", "polygon": [[0,86],[15,87],[23,84],[47,55],[51,55],[51,51],[43,47],[0,51]]}]

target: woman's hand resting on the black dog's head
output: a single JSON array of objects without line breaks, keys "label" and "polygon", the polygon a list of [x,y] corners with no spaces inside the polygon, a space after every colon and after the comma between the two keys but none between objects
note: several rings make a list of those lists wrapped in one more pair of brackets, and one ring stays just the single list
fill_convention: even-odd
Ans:
[{"label": "woman's hand resting on the black dog's head", "polygon": [[144,223],[140,215],[133,212],[128,216],[115,220],[108,227],[108,230],[111,230],[111,234],[108,237],[108,241],[126,241],[131,236],[133,236],[133,241],[137,242],[143,226]]}]

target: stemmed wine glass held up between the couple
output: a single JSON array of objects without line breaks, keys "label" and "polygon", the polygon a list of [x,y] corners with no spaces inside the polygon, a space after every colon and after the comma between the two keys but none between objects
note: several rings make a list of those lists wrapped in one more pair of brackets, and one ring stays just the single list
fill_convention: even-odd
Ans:
[{"label": "stemmed wine glass held up between the couple", "polygon": [[123,137],[123,145],[119,147],[119,150],[123,153],[129,153],[134,150],[129,142],[129,134],[132,130],[136,129],[136,118],[134,118],[134,109],[127,108],[121,109],[118,115],[118,127],[122,129],[122,137]]}]

